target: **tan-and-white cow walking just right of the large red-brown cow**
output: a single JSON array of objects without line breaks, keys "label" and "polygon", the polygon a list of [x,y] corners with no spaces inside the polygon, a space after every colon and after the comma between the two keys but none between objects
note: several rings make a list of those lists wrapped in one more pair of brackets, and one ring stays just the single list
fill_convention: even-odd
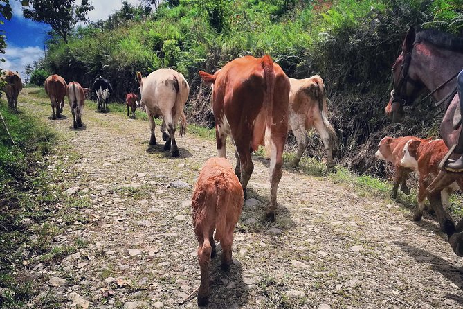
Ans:
[{"label": "tan-and-white cow walking just right of the large red-brown cow", "polygon": [[298,140],[298,152],[291,166],[299,165],[300,158],[307,148],[306,130],[315,127],[322,138],[327,152],[327,167],[333,167],[333,147],[337,136],[328,121],[327,96],[323,79],[318,76],[297,80],[289,78],[289,127]]}]

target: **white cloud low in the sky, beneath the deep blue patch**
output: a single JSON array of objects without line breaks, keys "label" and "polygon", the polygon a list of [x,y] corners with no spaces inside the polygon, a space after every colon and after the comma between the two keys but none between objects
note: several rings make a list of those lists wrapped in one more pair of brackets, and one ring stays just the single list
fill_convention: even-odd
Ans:
[{"label": "white cloud low in the sky, beneath the deep blue patch", "polygon": [[2,68],[18,71],[24,78],[24,67],[26,64],[33,64],[35,60],[43,57],[44,50],[39,46],[16,47],[8,45],[5,55],[1,57],[6,61],[0,64]]}]

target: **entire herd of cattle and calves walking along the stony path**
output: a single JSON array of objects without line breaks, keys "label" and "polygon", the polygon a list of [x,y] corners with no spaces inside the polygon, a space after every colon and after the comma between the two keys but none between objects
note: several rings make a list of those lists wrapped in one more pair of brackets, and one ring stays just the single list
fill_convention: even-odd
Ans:
[{"label": "entire herd of cattle and calves walking along the stony path", "polygon": [[[10,107],[16,108],[17,94],[22,84],[19,76],[11,71],[3,78]],[[246,56],[228,62],[215,74],[199,71],[202,80],[212,87],[212,111],[215,116],[218,157],[206,162],[202,168],[192,197],[194,232],[199,242],[198,257],[201,267],[201,286],[198,304],[208,303],[208,265],[215,256],[215,240],[221,242],[222,268],[228,269],[231,258],[233,230],[242,211],[246,187],[253,173],[251,153],[260,145],[270,157],[270,204],[266,209],[266,220],[273,222],[277,209],[277,189],[282,177],[282,154],[289,130],[298,140],[298,152],[291,166],[298,166],[307,147],[307,130],[311,127],[320,134],[327,152],[327,165],[332,166],[332,150],[336,143],[336,132],[327,119],[327,97],[320,76],[297,80],[288,78],[278,64],[268,56],[254,58]],[[186,118],[183,112],[190,87],[183,75],[173,69],[159,69],[143,77],[136,73],[140,84],[140,100],[136,94],[127,94],[127,116],[133,116],[139,106],[145,107],[151,128],[150,145],[156,144],[154,118],[162,117],[161,132],[164,149],[171,150],[172,157],[179,156],[175,131],[179,125],[180,135],[185,133]],[[19,78],[19,81],[21,79]],[[78,82],[66,84],[56,74],[45,82],[46,94],[51,100],[52,118],[60,117],[64,98],[68,96],[75,128],[82,126],[82,110],[86,94],[90,89]],[[107,111],[107,101],[112,87],[101,77],[93,83],[98,100],[98,109]],[[226,139],[235,144],[237,165],[233,172],[226,160]],[[171,147],[172,146],[172,147]],[[396,168],[394,188],[391,196],[401,191],[409,194],[406,181],[410,172],[419,174],[418,204],[414,220],[420,220],[426,199],[426,187],[438,173],[438,164],[447,152],[442,140],[419,139],[413,136],[394,139],[385,137],[379,143],[376,157],[390,161]],[[463,188],[463,183],[457,187]],[[448,195],[455,184],[442,191],[442,200],[448,204]],[[215,233],[215,240],[213,233]]]}]

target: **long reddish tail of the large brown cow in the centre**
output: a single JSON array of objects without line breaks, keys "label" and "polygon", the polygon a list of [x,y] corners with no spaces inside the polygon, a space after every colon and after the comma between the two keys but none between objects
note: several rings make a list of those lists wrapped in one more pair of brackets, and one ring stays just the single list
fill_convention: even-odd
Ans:
[{"label": "long reddish tail of the large brown cow in the centre", "polygon": [[273,91],[275,89],[275,71],[273,71],[273,60],[269,55],[264,55],[262,68],[264,69],[266,84],[264,94],[264,107],[266,109],[264,145],[266,155],[269,157],[271,152],[271,130],[273,125]]}]

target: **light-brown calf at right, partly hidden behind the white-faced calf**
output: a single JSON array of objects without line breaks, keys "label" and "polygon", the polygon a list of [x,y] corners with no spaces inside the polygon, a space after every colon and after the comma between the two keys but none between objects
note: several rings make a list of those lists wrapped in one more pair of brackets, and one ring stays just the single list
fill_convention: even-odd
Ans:
[{"label": "light-brown calf at right, partly hidden behind the white-faced calf", "polygon": [[394,175],[394,188],[390,193],[390,197],[397,198],[397,189],[401,184],[400,190],[406,195],[410,194],[410,190],[407,187],[408,175],[412,172],[410,168],[404,168],[401,165],[401,159],[403,157],[403,147],[410,141],[410,139],[418,139],[414,136],[403,136],[396,139],[385,136],[378,144],[378,151],[374,154],[377,159],[381,159],[392,163],[395,168]]}]

